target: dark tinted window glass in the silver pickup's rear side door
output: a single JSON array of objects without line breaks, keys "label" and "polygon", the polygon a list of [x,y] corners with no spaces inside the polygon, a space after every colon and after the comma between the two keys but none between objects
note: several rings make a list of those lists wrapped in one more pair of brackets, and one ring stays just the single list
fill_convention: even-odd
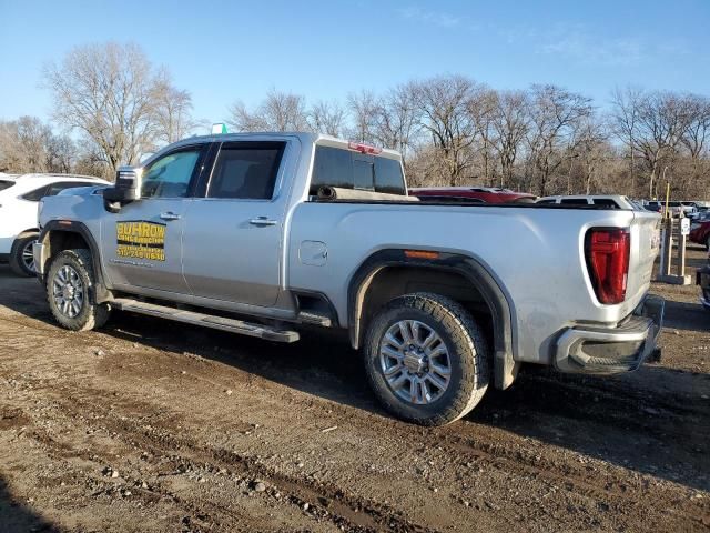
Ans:
[{"label": "dark tinted window glass in the silver pickup's rear side door", "polygon": [[283,142],[223,144],[210,179],[207,198],[271,200],[284,147]]}]

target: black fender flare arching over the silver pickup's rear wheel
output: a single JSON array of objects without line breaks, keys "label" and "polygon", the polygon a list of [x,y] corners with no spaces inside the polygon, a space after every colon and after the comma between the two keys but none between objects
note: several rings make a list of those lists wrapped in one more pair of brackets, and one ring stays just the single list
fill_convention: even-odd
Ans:
[{"label": "black fender flare arching over the silver pickup's rear wheel", "polygon": [[494,329],[494,380],[496,389],[513,384],[520,363],[516,361],[515,308],[507,293],[480,261],[464,254],[438,252],[435,259],[410,258],[404,249],[385,249],[369,255],[355,271],[347,290],[347,323],[351,344],[362,345],[364,296],[376,274],[388,266],[425,268],[463,275],[483,295],[491,312]]}]

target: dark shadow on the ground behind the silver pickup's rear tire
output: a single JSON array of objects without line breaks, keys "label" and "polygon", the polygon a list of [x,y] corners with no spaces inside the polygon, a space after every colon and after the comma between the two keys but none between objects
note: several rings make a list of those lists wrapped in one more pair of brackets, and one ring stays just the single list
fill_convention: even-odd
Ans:
[{"label": "dark shadow on the ground behind the silver pickup's rear tire", "polygon": [[528,368],[509,390],[488,391],[466,431],[486,424],[708,491],[708,395],[710,375],[657,364],[617,378]]}]

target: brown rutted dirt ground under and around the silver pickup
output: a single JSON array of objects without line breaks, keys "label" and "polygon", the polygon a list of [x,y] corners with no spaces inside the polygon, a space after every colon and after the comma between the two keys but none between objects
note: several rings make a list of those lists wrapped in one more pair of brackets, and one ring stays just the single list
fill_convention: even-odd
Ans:
[{"label": "brown rutted dirt ground under and around the silver pickup", "polygon": [[694,286],[653,292],[660,363],[527,369],[423,429],[339,339],[121,313],[71,333],[0,265],[0,532],[708,531],[710,313]]}]

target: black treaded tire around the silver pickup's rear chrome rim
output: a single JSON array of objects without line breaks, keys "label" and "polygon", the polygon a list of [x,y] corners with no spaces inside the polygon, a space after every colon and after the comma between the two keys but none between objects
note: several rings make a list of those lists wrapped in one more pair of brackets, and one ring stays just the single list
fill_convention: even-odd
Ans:
[{"label": "black treaded tire around the silver pickup's rear chrome rim", "polygon": [[[407,320],[419,322],[438,334],[448,352],[448,385],[429,403],[403,400],[384,374],[379,352],[385,334]],[[414,293],[390,301],[367,328],[364,358],[369,384],[385,409],[420,425],[444,425],[460,419],[476,406],[488,388],[489,351],[484,335],[468,311],[438,294]],[[412,381],[409,386],[415,386]]]}]

